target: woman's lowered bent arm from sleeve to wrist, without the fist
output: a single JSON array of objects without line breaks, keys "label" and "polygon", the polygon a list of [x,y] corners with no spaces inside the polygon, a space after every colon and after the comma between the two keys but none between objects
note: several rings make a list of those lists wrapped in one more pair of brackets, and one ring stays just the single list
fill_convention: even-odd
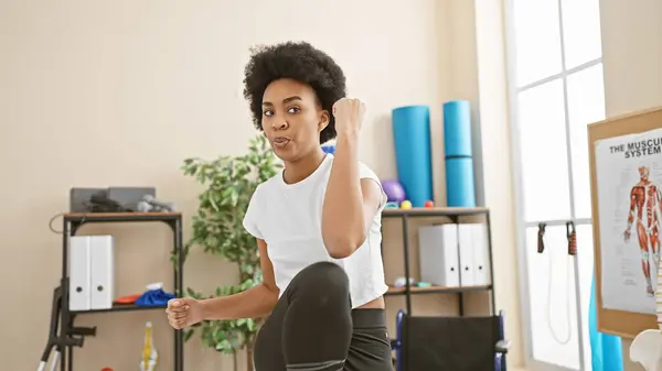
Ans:
[{"label": "woman's lowered bent arm from sleeve to wrist, without the fist", "polygon": [[204,319],[256,318],[269,315],[278,301],[278,286],[274,277],[274,265],[267,254],[267,243],[258,239],[259,264],[263,283],[243,293],[202,301]]}]

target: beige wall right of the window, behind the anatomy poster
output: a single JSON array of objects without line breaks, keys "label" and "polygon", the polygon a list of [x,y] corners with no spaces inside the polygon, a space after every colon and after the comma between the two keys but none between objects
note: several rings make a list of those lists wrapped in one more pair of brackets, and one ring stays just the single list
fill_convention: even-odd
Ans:
[{"label": "beige wall right of the window, behind the anatomy poster", "polygon": [[[662,2],[600,0],[607,117],[662,106]],[[623,339],[626,370],[630,340]]]}]

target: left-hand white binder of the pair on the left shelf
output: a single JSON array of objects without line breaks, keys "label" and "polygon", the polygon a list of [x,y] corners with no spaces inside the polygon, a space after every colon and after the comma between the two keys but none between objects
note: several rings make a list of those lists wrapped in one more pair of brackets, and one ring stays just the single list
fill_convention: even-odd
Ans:
[{"label": "left-hand white binder of the pair on the left shelf", "polygon": [[89,237],[72,236],[68,243],[70,297],[71,310],[89,310],[90,308],[90,266]]}]

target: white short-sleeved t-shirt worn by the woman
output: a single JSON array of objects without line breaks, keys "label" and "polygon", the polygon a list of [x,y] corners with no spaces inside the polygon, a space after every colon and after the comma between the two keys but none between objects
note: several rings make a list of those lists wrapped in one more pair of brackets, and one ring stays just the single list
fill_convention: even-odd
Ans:
[{"label": "white short-sleeved t-shirt worn by the woman", "polygon": [[[386,195],[370,226],[365,242],[344,259],[333,259],[322,240],[322,205],[333,155],[327,154],[310,176],[287,184],[282,171],[260,184],[248,205],[244,228],[267,243],[280,295],[290,281],[306,266],[328,261],[344,269],[350,280],[352,308],[382,296],[388,286],[382,262],[382,209]],[[365,164],[360,163],[360,178],[380,179]]]}]

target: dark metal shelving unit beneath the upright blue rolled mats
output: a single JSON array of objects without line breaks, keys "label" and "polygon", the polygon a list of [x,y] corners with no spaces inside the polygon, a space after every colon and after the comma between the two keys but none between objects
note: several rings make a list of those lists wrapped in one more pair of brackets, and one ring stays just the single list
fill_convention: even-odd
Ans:
[{"label": "dark metal shelving unit beneath the upright blue rolled mats", "polygon": [[[453,223],[461,223],[463,217],[483,216],[488,229],[488,250],[490,260],[490,284],[482,286],[460,286],[460,287],[416,287],[412,286],[409,280],[405,280],[404,287],[391,287],[386,296],[404,295],[407,314],[412,314],[412,295],[420,294],[457,294],[459,295],[459,315],[465,313],[463,293],[489,291],[491,292],[490,305],[492,314],[496,313],[494,303],[494,271],[492,264],[492,233],[490,229],[490,210],[484,207],[462,208],[462,207],[435,207],[435,208],[414,208],[414,209],[384,209],[382,219],[401,219],[403,229],[403,254],[405,264],[405,277],[410,276],[410,251],[409,251],[409,220],[413,218],[438,218],[446,217]],[[460,245],[458,244],[458,254]]]}]

